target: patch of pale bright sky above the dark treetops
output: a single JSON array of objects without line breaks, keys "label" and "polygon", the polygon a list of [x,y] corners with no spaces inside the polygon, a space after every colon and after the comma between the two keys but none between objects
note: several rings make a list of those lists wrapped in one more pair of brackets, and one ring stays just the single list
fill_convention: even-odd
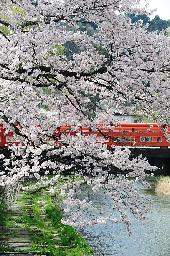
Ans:
[{"label": "patch of pale bright sky above the dark treetops", "polygon": [[[144,0],[141,0],[141,2],[144,3]],[[150,20],[152,20],[155,15],[160,16],[163,20],[170,19],[170,0],[148,0],[148,3],[149,6],[147,7],[147,10],[154,10],[157,8],[157,11],[150,16]]]}]

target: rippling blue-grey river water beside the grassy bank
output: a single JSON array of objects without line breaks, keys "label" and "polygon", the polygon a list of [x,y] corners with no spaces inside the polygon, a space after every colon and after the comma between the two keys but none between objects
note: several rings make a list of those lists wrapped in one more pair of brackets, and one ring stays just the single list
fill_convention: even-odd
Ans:
[{"label": "rippling blue-grey river water beside the grassy bank", "polygon": [[[156,179],[158,177],[147,178],[151,189],[141,189],[141,194],[154,200],[153,213],[147,213],[145,226],[132,219],[130,237],[123,223],[105,223],[79,230],[94,248],[94,256],[170,256],[170,197],[155,195]],[[104,203],[102,191],[95,195],[94,202],[98,209],[110,209],[109,203]]]}]

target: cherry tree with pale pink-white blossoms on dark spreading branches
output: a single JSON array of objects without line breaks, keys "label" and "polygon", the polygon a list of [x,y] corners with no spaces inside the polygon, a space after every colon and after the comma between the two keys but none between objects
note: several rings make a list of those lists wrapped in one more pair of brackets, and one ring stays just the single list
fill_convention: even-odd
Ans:
[{"label": "cherry tree with pale pink-white blossoms on dark spreading branches", "polygon": [[[0,187],[7,203],[15,199],[26,178],[34,176],[37,184],[51,184],[55,191],[53,184],[61,177],[63,184],[57,185],[61,196],[67,195],[63,202],[70,216],[63,223],[82,227],[124,222],[130,235],[128,213],[145,220],[152,202],[139,195],[135,182],[149,187],[145,170],[152,172],[155,167],[142,156],[129,160],[128,148],[109,151],[95,142],[94,135],[54,133],[65,122],[73,131],[81,122],[97,131],[89,114],[95,97],[108,105],[108,113],[110,106],[122,114],[138,108],[158,123],[170,123],[170,38],[165,31],[159,35],[147,32],[141,20],[131,23],[125,13],[149,14],[138,7],[139,2],[1,0],[0,24],[8,33],[0,31],[0,122],[6,134],[12,131],[20,140],[19,146],[8,147],[10,158],[0,155],[5,168],[0,172]],[[94,24],[95,33],[89,35],[81,23]],[[59,51],[66,43],[75,47],[75,53]],[[100,54],[96,46],[109,57]],[[43,88],[50,93],[42,94]],[[68,104],[75,111],[65,111],[64,116]],[[111,174],[112,166],[127,175]],[[71,181],[63,172],[72,174]],[[50,181],[48,173],[55,174]],[[98,215],[88,196],[80,199],[81,186],[75,175],[83,178],[92,192],[103,189],[112,212]],[[89,212],[89,218],[83,212]],[[114,212],[120,217],[113,218]]]}]

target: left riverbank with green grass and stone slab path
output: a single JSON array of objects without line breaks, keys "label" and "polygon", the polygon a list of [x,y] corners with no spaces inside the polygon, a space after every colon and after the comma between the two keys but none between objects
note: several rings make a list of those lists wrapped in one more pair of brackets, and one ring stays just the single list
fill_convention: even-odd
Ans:
[{"label": "left riverbank with green grass and stone slab path", "polygon": [[49,187],[21,192],[4,213],[0,224],[0,255],[26,251],[32,255],[93,255],[84,238],[74,228],[61,223],[61,198],[59,192],[51,194]]}]

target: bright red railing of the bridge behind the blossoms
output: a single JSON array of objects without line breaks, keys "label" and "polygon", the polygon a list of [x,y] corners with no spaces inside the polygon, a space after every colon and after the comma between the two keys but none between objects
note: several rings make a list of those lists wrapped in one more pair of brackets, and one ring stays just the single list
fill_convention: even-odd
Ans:
[{"label": "bright red railing of the bridge behind the blossoms", "polygon": [[[110,128],[110,126],[112,127]],[[76,135],[79,131],[86,136],[96,134],[96,143],[102,142],[103,144],[107,144],[108,148],[114,145],[127,147],[160,147],[161,149],[167,149],[170,143],[166,141],[165,133],[163,133],[165,126],[166,125],[158,125],[155,123],[99,123],[96,124],[96,127],[98,127],[100,132],[99,130],[92,131],[91,128],[87,128],[84,124],[83,127],[79,127],[77,130],[75,129],[75,131],[72,131],[70,126],[58,127],[53,135]],[[170,134],[170,127],[169,125],[167,126],[169,132],[166,133]],[[41,128],[41,126],[39,127]],[[7,146],[13,144],[18,145],[20,143],[16,141],[12,132],[6,135],[4,135],[4,133],[5,129],[3,129],[1,125],[0,148],[7,148]]]}]

